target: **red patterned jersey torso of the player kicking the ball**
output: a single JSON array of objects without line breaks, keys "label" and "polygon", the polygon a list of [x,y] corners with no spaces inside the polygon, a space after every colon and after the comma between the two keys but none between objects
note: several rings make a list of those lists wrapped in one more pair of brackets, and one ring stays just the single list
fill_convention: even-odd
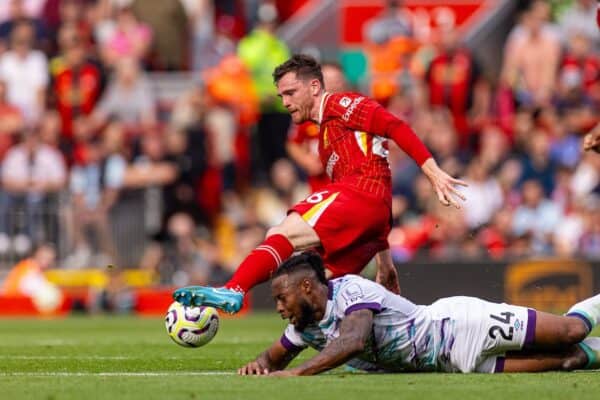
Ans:
[{"label": "red patterned jersey torso of the player kicking the ball", "polygon": [[385,132],[373,132],[382,107],[357,93],[326,93],[320,109],[319,155],[329,178],[391,201]]}]

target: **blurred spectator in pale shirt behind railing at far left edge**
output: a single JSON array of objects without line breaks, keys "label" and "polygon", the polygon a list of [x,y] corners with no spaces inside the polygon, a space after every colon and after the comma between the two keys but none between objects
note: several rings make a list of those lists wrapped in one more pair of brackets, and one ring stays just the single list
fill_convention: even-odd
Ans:
[{"label": "blurred spectator in pale shirt behind railing at far left edge", "polygon": [[[65,187],[67,170],[56,147],[43,143],[39,132],[27,130],[22,143],[12,147],[2,162],[0,193],[0,248],[13,241],[20,254],[33,243],[49,240],[48,216],[56,212],[57,194]],[[25,221],[20,221],[20,210]],[[56,239],[56,238],[54,238]]]}]

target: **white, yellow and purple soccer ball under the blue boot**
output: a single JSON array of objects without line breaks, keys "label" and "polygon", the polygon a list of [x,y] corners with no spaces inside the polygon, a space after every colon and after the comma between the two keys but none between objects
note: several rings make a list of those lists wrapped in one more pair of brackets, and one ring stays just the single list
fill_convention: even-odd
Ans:
[{"label": "white, yellow and purple soccer ball under the blue boot", "polygon": [[167,334],[184,347],[200,347],[210,342],[219,329],[219,314],[213,307],[186,307],[173,302],[165,317]]}]

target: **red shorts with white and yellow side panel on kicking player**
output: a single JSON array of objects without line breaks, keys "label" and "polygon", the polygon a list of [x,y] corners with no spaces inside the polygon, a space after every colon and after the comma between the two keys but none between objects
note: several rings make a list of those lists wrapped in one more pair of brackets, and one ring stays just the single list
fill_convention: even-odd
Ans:
[{"label": "red shorts with white and yellow side panel on kicking player", "polygon": [[332,277],[358,274],[381,250],[391,229],[389,204],[357,189],[331,183],[292,207],[319,235]]}]

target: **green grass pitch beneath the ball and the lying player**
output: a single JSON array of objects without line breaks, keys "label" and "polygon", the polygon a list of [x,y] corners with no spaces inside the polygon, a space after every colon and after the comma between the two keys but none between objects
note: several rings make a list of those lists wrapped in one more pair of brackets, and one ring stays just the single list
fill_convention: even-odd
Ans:
[{"label": "green grass pitch beneath the ball and the lying player", "polygon": [[[599,399],[600,371],[545,374],[239,377],[279,338],[276,314],[221,319],[207,346],[186,349],[161,319],[0,320],[0,399]],[[598,333],[598,332],[596,332]],[[312,352],[306,351],[302,358]]]}]

